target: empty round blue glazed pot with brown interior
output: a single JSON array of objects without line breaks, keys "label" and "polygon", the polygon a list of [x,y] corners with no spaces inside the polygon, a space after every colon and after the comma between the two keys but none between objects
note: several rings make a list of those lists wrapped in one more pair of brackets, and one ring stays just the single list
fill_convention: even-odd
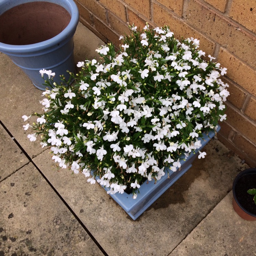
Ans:
[{"label": "empty round blue glazed pot with brown interior", "polygon": [[[35,3],[34,3],[35,2]],[[79,11],[78,8],[73,0],[1,0],[0,1],[0,17],[4,15],[6,12],[12,12],[12,10],[16,10],[15,8],[20,8],[22,4],[36,4],[37,6],[42,6],[43,8],[37,8],[37,11],[39,12],[42,9],[49,10],[47,4],[57,4],[58,8],[65,11],[68,15],[68,18],[66,18],[66,27],[63,25],[58,24],[58,18],[54,17],[56,12],[53,13],[53,22],[47,23],[47,18],[42,18],[40,20],[39,13],[31,13],[31,17],[37,16],[38,22],[44,22],[43,26],[44,29],[48,29],[48,32],[46,31],[46,40],[43,39],[43,41],[30,43],[31,41],[28,40],[28,43],[19,44],[16,43],[15,40],[7,40],[5,41],[3,38],[0,37],[0,52],[5,53],[8,55],[12,61],[20,67],[31,79],[33,84],[41,89],[45,90],[44,79],[42,79],[41,74],[39,73],[39,70],[46,69],[46,70],[52,70],[52,72],[55,72],[54,82],[59,83],[60,82],[60,75],[65,74],[66,78],[68,73],[66,73],[67,70],[71,72],[75,72],[75,64],[74,64],[74,56],[73,56],[73,35],[75,33],[78,21],[79,21]],[[44,6],[46,5],[46,6]],[[60,7],[61,6],[61,7]],[[45,8],[44,8],[45,7]],[[64,9],[65,10],[64,10]],[[26,8],[24,8],[26,10]],[[58,10],[58,9],[56,9]],[[47,12],[47,11],[46,11]],[[19,14],[21,12],[14,12],[14,18],[17,17],[16,25],[19,26]],[[29,17],[29,14],[26,14]],[[44,16],[44,15],[41,15]],[[63,15],[62,15],[63,16]],[[29,17],[30,18],[30,17]],[[43,20],[44,19],[44,20]],[[5,20],[5,18],[3,19]],[[49,19],[48,19],[49,20]],[[56,23],[55,23],[56,21]],[[2,22],[1,22],[2,23]],[[10,23],[12,23],[12,19],[10,19]],[[54,24],[55,23],[55,24]],[[12,24],[11,24],[12,25]],[[10,26],[11,26],[10,25]],[[17,27],[16,25],[13,25],[14,28]],[[34,25],[34,22],[30,22],[30,25]],[[29,25],[29,26],[30,26]],[[28,25],[22,25],[29,29]],[[21,28],[22,28],[21,26]],[[57,34],[53,37],[51,37],[52,31],[56,28],[56,26],[60,26],[59,32],[56,32]],[[1,30],[3,30],[3,25],[1,24]],[[8,25],[6,28],[6,35],[7,34],[14,34],[15,32],[8,31]],[[37,31],[39,29],[33,29],[32,32],[36,34],[42,34],[41,31]],[[19,29],[17,29],[16,33]],[[1,33],[4,33],[4,31],[1,31]],[[20,34],[23,35],[23,37],[26,36],[26,32],[22,32]],[[25,35],[24,35],[25,34]],[[47,38],[48,37],[51,38]],[[28,35],[31,35],[31,29],[28,32]],[[18,35],[20,37],[20,35]],[[40,37],[40,35],[39,35]],[[25,40],[25,39],[24,39]],[[23,40],[23,42],[24,42]],[[18,40],[17,40],[18,41]],[[7,43],[6,43],[7,42]],[[11,43],[9,43],[11,42]],[[13,42],[13,43],[12,43]],[[47,76],[47,75],[46,75]]]}]

